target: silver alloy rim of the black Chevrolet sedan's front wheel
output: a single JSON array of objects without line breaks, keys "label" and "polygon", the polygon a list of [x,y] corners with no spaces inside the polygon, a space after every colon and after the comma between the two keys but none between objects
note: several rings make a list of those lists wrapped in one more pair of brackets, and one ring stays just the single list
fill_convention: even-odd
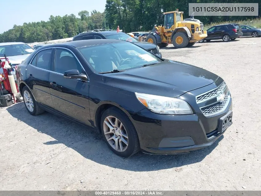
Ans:
[{"label": "silver alloy rim of the black Chevrolet sedan's front wheel", "polygon": [[103,131],[107,142],[118,152],[128,148],[128,134],[122,122],[114,116],[107,116],[103,121]]}]

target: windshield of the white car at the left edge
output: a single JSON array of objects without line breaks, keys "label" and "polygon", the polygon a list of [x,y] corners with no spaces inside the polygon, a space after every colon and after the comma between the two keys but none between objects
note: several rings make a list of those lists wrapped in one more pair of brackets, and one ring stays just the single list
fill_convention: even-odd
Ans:
[{"label": "windshield of the white car at the left edge", "polygon": [[8,56],[17,56],[23,54],[31,54],[34,50],[27,44],[13,44],[0,46],[0,56],[3,57],[4,54]]}]

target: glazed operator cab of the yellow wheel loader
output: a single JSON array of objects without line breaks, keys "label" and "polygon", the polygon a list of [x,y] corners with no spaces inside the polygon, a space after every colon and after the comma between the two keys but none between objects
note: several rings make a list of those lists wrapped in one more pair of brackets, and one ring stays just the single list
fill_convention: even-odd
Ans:
[{"label": "glazed operator cab of the yellow wheel loader", "polygon": [[173,30],[178,27],[179,21],[183,20],[183,11],[169,11],[164,14],[164,28],[166,30]]}]

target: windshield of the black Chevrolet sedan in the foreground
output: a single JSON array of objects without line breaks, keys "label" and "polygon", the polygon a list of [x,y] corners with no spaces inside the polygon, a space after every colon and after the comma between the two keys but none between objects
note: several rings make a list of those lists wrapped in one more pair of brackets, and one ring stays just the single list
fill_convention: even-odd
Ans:
[{"label": "windshield of the black Chevrolet sedan in the foreground", "polygon": [[140,68],[161,60],[147,50],[128,42],[108,43],[77,48],[97,72]]}]

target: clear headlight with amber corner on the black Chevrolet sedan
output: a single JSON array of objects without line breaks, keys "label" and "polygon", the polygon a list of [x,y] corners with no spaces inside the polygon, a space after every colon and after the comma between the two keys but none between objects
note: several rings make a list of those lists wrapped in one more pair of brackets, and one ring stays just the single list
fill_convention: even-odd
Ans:
[{"label": "clear headlight with amber corner on the black Chevrolet sedan", "polygon": [[157,114],[193,114],[191,107],[181,99],[136,92],[135,95],[142,105]]}]

